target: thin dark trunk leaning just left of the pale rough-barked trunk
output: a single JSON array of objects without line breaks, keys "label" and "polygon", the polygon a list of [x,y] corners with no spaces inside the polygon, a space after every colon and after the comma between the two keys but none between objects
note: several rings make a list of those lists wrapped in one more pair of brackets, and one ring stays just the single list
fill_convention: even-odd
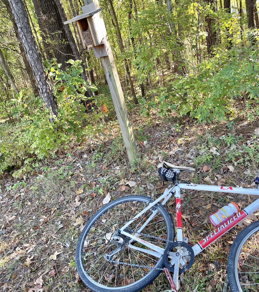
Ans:
[{"label": "thin dark trunk leaning just left of the pale rough-barked trunk", "polygon": [[4,4],[7,8],[7,12],[8,14],[10,15],[10,20],[11,22],[13,23],[13,29],[14,29],[14,32],[15,32],[15,36],[18,40],[18,44],[19,44],[19,48],[20,48],[20,52],[21,52],[21,55],[22,55],[22,58],[23,58],[23,62],[24,62],[24,65],[25,65],[25,69],[29,75],[29,79],[30,79],[30,84],[32,86],[32,90],[33,90],[33,93],[35,96],[38,96],[39,95],[39,90],[37,88],[37,85],[36,85],[36,80],[33,76],[33,73],[32,73],[32,68],[30,66],[30,63],[27,59],[27,56],[25,54],[25,50],[24,50],[24,47],[23,47],[23,44],[21,42],[21,39],[20,39],[20,36],[19,36],[19,33],[18,33],[18,27],[15,23],[15,20],[14,20],[14,16],[13,16],[13,12],[12,12],[12,9],[9,5],[9,2],[8,0],[3,0],[4,1]]}]

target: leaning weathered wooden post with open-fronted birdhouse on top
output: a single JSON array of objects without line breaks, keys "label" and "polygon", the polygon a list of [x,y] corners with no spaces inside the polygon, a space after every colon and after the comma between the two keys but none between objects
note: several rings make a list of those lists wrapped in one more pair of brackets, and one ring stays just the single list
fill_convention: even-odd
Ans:
[{"label": "leaning weathered wooden post with open-fronted birdhouse on top", "polygon": [[[101,63],[120,124],[129,162],[132,164],[133,160],[138,158],[137,147],[106,27],[103,21],[103,15],[101,13],[102,8],[100,8],[98,0],[84,0],[84,3],[85,6],[82,7],[83,14],[64,22],[64,24],[77,21],[77,25],[81,27],[82,32],[86,32],[90,29],[93,44],[86,44],[86,46],[91,46],[94,50],[95,57],[101,58]],[[85,20],[87,20],[87,22]],[[82,33],[80,34],[80,37],[84,43]]]}]

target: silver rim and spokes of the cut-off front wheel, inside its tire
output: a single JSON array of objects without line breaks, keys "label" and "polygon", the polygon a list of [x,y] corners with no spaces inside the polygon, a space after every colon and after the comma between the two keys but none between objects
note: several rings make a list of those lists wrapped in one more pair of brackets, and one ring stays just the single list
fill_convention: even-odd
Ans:
[{"label": "silver rim and spokes of the cut-off front wheel, inside its tire", "polygon": [[258,230],[259,228],[256,231],[253,229],[246,235],[236,253],[235,277],[240,292],[259,291]]}]

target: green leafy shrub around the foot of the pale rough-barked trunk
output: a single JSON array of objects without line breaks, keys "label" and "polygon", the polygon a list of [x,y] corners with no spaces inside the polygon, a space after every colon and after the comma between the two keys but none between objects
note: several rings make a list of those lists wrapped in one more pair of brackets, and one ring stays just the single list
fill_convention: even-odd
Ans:
[{"label": "green leafy shrub around the foot of the pale rough-barked trunk", "polygon": [[[58,100],[58,116],[50,121],[49,109],[44,107],[41,98],[25,96],[20,93],[16,99],[7,102],[6,117],[11,115],[16,124],[7,123],[0,128],[0,174],[13,168],[20,168],[13,176],[20,177],[31,171],[32,162],[49,158],[57,151],[69,148],[69,142],[76,136],[81,140],[85,135],[98,130],[97,122],[101,113],[94,109],[86,114],[80,104],[87,84],[80,76],[80,61],[72,61],[66,72],[60,70],[61,64],[48,62],[47,69],[53,80],[53,93]],[[62,90],[60,90],[62,86]],[[95,88],[92,88],[95,90]],[[91,101],[94,102],[94,101]]]}]

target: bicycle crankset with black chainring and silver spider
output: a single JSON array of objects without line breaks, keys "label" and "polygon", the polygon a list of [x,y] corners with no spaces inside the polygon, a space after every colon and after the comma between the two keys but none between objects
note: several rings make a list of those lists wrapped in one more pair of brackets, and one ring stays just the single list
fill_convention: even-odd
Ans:
[{"label": "bicycle crankset with black chainring and silver spider", "polygon": [[170,272],[174,272],[175,256],[181,257],[180,274],[189,270],[194,263],[194,251],[189,244],[183,241],[173,242],[165,248],[163,255],[164,265]]}]

